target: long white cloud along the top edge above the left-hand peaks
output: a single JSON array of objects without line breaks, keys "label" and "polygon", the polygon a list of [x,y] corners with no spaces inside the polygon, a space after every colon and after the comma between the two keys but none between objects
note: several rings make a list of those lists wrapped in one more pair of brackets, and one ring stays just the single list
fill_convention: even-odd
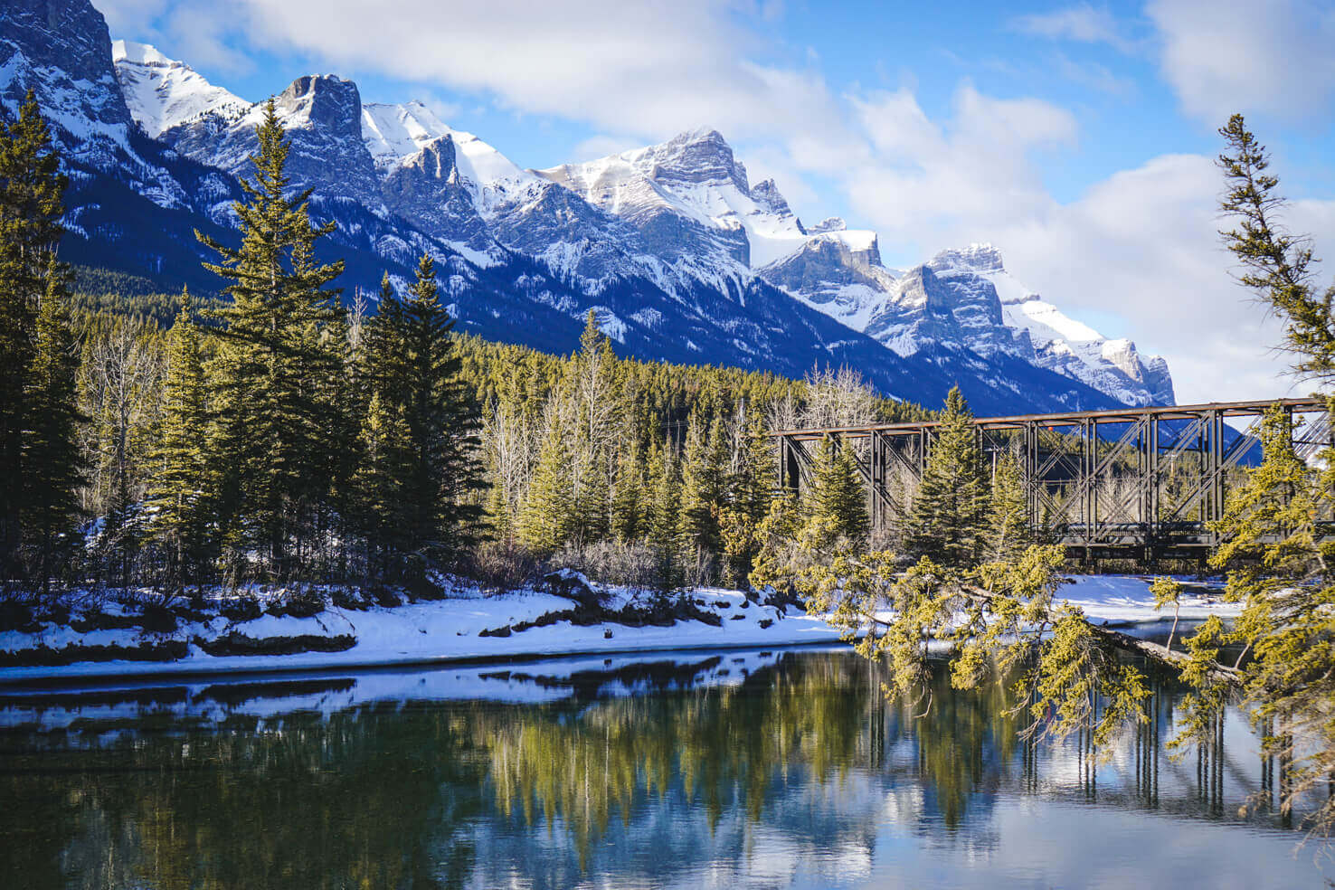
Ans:
[{"label": "long white cloud along the top edge above the left-hand peaks", "polygon": [[760,63],[772,8],[623,3],[243,0],[251,39],[334,67],[478,91],[501,105],[662,137],[712,123],[734,139],[836,125],[821,76]]}]

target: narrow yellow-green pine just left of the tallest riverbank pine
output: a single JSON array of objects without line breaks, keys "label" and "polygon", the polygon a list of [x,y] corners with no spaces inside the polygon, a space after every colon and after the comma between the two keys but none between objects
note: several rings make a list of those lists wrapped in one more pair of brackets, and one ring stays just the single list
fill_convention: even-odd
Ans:
[{"label": "narrow yellow-green pine just left of the tallest riverbank pine", "polygon": [[202,335],[191,319],[188,294],[167,336],[167,380],[154,450],[156,472],[148,488],[155,511],[151,534],[166,552],[168,583],[202,586],[216,552],[216,478],[208,443]]}]

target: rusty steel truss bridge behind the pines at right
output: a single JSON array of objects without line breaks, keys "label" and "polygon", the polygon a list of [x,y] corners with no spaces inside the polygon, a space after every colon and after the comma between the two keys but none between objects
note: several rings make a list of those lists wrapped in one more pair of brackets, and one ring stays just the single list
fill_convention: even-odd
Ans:
[{"label": "rusty steel truss bridge behind the pines at right", "polygon": [[[1199,556],[1215,546],[1240,468],[1260,460],[1260,419],[1279,404],[1292,444],[1310,459],[1332,442],[1322,399],[1219,402],[1167,407],[977,418],[979,446],[995,470],[1015,458],[1035,528],[1085,556]],[[934,422],[780,430],[781,483],[805,483],[822,439],[848,442],[868,487],[873,528],[906,512],[932,450]]]}]

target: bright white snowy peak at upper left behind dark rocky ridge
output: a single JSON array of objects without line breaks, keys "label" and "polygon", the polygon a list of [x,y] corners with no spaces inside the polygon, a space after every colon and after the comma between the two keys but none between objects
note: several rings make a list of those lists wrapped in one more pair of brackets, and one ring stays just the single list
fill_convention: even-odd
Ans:
[{"label": "bright white snowy peak at upper left behind dark rocky ridge", "polygon": [[186,63],[168,59],[150,44],[113,40],[111,57],[129,113],[154,139],[206,115],[236,120],[251,108],[252,103],[215,87]]}]

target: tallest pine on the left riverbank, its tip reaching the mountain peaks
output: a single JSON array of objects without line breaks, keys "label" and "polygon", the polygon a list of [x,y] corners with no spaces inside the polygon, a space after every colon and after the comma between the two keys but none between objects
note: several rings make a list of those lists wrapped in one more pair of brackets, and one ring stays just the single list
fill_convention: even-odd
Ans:
[{"label": "tallest pine on the left riverbank, its tip reaching the mountain peaks", "polygon": [[255,181],[242,181],[250,200],[234,204],[240,248],[196,236],[218,254],[219,262],[204,267],[230,282],[232,298],[214,312],[223,323],[211,375],[224,466],[220,504],[234,547],[266,552],[270,572],[286,576],[302,570],[295,538],[327,495],[315,471],[330,452],[331,406],[320,396],[343,368],[338,338],[327,336],[339,319],[336,291],[326,286],[343,263],[314,259],[316,240],[334,223],[311,224],[310,191],[288,195],[290,145],[272,100],[255,135]]}]

